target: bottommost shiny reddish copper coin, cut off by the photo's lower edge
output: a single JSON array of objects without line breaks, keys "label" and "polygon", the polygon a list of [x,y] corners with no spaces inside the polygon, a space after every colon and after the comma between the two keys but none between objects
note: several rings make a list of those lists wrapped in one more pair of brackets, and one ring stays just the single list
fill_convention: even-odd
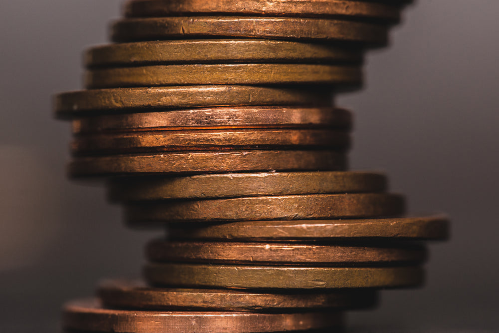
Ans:
[{"label": "bottommost shiny reddish copper coin, cut off by the photo's lower edge", "polygon": [[102,308],[96,300],[68,303],[65,329],[119,333],[252,333],[318,329],[342,324],[340,313],[159,312]]}]

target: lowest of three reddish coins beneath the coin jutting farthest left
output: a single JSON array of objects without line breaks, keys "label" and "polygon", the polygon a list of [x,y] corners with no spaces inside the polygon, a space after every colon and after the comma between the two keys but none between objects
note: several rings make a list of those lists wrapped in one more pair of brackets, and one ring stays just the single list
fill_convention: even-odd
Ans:
[{"label": "lowest of three reddish coins beneath the coin jutting farthest left", "polygon": [[345,155],[333,151],[218,150],[79,157],[69,165],[69,173],[72,177],[88,177],[345,168]]}]

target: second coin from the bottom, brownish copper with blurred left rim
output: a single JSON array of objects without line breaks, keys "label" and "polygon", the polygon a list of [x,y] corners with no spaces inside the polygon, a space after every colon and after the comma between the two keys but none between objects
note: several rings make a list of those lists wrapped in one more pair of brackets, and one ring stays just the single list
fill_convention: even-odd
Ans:
[{"label": "second coin from the bottom, brownish copper with blurred left rim", "polygon": [[150,288],[138,281],[106,281],[102,302],[112,308],[147,310],[284,311],[297,309],[364,309],[377,304],[373,290],[306,294],[266,294],[220,289]]}]

